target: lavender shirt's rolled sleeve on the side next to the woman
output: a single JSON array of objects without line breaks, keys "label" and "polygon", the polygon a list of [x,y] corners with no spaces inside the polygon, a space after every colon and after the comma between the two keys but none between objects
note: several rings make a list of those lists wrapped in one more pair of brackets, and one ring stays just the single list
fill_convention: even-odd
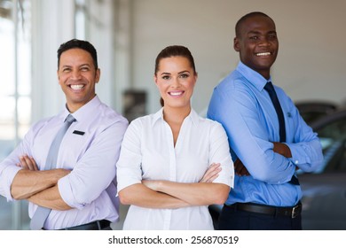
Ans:
[{"label": "lavender shirt's rolled sleeve on the side next to the woman", "polygon": [[99,133],[72,172],[59,179],[59,193],[67,205],[78,209],[89,205],[114,180],[126,128],[118,123]]}]

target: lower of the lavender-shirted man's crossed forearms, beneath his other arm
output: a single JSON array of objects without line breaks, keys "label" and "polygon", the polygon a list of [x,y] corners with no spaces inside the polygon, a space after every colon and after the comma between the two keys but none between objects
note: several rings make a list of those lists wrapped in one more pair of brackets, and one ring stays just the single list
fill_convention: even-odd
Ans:
[{"label": "lower of the lavender-shirted man's crossed forearms, beneath his other arm", "polygon": [[57,185],[31,196],[28,198],[28,201],[54,210],[64,211],[71,209],[61,198]]}]

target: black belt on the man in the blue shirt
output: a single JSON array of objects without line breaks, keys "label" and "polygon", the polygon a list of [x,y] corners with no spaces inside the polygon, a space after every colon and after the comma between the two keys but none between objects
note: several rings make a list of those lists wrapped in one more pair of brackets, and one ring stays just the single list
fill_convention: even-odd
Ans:
[{"label": "black belt on the man in the blue shirt", "polygon": [[263,213],[271,216],[286,216],[294,219],[302,213],[302,203],[299,202],[295,206],[272,206],[272,205],[259,205],[254,203],[235,203],[232,205],[224,205],[234,211],[246,211],[251,213]]}]

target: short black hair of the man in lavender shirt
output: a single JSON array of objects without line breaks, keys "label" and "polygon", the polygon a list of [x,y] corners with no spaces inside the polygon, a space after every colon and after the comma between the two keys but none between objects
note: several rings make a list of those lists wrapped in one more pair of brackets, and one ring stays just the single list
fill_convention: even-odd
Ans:
[{"label": "short black hair of the man in lavender shirt", "polygon": [[66,43],[62,43],[58,49],[58,69],[60,65],[60,57],[61,53],[63,53],[66,50],[74,49],[74,48],[79,48],[86,50],[90,53],[91,58],[94,62],[95,69],[98,69],[98,53],[96,52],[96,49],[94,46],[87,42],[87,41],[81,41],[77,39],[72,39]]}]

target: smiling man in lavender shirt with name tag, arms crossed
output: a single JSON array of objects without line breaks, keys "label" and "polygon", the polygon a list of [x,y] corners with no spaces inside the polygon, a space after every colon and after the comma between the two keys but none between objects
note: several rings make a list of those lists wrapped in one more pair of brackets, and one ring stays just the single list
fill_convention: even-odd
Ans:
[{"label": "smiling man in lavender shirt with name tag, arms crossed", "polygon": [[[43,229],[111,229],[119,219],[115,165],[128,120],[95,93],[100,70],[92,44],[61,44],[57,74],[67,104],[35,123],[1,162],[0,194],[8,201],[27,199],[30,218],[38,205],[50,208]],[[68,114],[75,122],[60,143],[56,167],[47,170],[51,143]]]}]

